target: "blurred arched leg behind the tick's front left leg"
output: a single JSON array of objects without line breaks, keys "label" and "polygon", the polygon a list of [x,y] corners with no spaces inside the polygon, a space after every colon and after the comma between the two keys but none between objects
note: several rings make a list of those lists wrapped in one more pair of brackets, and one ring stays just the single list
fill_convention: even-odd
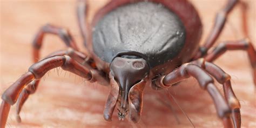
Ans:
[{"label": "blurred arched leg behind the tick's front left leg", "polygon": [[62,39],[62,41],[66,44],[66,46],[78,50],[76,42],[73,40],[71,34],[68,30],[59,28],[57,26],[53,26],[50,24],[46,24],[42,26],[42,28],[37,32],[35,39],[33,40],[33,60],[37,62],[39,60],[39,50],[42,46],[44,35],[46,33],[50,33],[53,35],[57,35]]}]

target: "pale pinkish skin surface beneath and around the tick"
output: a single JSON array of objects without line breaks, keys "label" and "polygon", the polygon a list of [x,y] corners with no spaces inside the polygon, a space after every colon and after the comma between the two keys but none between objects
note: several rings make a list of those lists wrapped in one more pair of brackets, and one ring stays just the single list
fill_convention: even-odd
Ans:
[{"label": "pale pinkish skin surface beneath and around the tick", "polygon": [[[256,1],[248,2],[248,26],[252,42],[256,42]],[[90,2],[91,12],[97,10],[105,1]],[[192,1],[199,11],[204,24],[205,41],[213,24],[215,13],[225,4],[224,1]],[[83,50],[82,38],[76,20],[75,1],[1,1],[1,85],[0,95],[28,71],[32,64],[32,38],[40,26],[45,23],[69,28],[76,42]],[[228,17],[227,25],[217,42],[241,39],[241,8],[236,6]],[[55,36],[46,36],[42,56],[65,49],[64,43]],[[232,77],[235,94],[241,103],[242,127],[256,127],[256,104],[251,67],[246,52],[227,52],[214,63]],[[62,72],[61,70],[59,73]],[[218,85],[222,91],[223,87]],[[150,87],[144,92],[144,109],[139,124],[129,124],[127,120],[119,122],[117,112],[113,113],[113,122],[103,119],[103,109],[108,87],[98,84],[82,83],[82,78],[63,71],[59,76],[56,70],[40,83],[37,92],[29,97],[21,112],[22,123],[15,120],[16,106],[11,107],[6,127],[192,127],[179,107],[171,101],[179,117],[177,123],[173,112],[157,101],[157,94],[168,100],[165,91],[153,91]],[[212,99],[206,91],[200,89],[196,80],[191,78],[179,86],[170,88],[179,105],[188,114],[196,127],[221,127],[222,123],[215,112]],[[2,102],[2,100],[0,100]],[[167,101],[168,102],[168,101]]]}]

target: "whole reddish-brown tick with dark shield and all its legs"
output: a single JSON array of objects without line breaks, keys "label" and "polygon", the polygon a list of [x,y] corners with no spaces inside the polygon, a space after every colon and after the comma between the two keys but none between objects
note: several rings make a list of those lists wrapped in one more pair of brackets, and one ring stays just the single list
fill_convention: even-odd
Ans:
[{"label": "whole reddish-brown tick with dark shield and all its legs", "polygon": [[[3,93],[0,126],[5,126],[10,105],[17,102],[19,114],[26,98],[37,89],[39,79],[47,71],[60,67],[92,83],[110,87],[103,114],[106,121],[111,121],[113,111],[118,111],[119,120],[129,117],[131,122],[138,123],[143,116],[145,86],[154,90],[171,89],[171,85],[194,77],[210,93],[224,126],[240,127],[240,104],[230,76],[211,62],[225,50],[246,50],[255,74],[255,50],[250,41],[242,39],[219,45],[207,53],[236,4],[237,1],[228,1],[217,15],[206,43],[199,48],[202,25],[197,11],[187,1],[111,1],[97,12],[92,23],[86,24],[83,21],[86,3],[80,1],[78,19],[89,55],[79,51],[68,31],[45,25],[33,41],[35,58],[39,57],[45,33],[58,35],[70,49],[52,53],[33,64],[29,72]],[[213,79],[224,85],[225,97]],[[21,120],[19,116],[17,119]]]}]

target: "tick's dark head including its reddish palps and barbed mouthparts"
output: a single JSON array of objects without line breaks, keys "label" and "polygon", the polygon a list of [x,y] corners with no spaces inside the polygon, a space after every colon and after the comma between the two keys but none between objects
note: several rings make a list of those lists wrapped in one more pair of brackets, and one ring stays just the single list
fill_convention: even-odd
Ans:
[{"label": "tick's dark head including its reddish palps and barbed mouthparts", "polygon": [[[148,74],[149,66],[143,58],[126,56],[113,59],[110,64],[111,91],[104,110],[106,120],[111,118],[117,103],[119,120],[124,120],[125,116],[129,114],[132,122],[137,123],[139,121],[142,112],[142,95],[146,84],[145,79]],[[114,102],[115,100],[116,102]]]}]

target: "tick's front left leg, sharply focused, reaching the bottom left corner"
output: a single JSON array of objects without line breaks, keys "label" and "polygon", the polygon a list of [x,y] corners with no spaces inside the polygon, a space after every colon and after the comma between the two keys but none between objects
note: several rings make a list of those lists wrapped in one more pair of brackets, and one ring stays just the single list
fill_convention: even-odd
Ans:
[{"label": "tick's front left leg, sharply focused, reaching the bottom left corner", "polygon": [[102,77],[99,72],[86,68],[86,66],[79,64],[69,56],[53,56],[39,61],[33,64],[29,68],[29,72],[26,72],[21,78],[19,78],[14,84],[12,84],[2,95],[1,106],[1,127],[3,128],[8,118],[8,111],[10,105],[14,105],[17,102],[18,96],[21,95],[24,87],[32,82],[32,80],[38,80],[42,78],[46,72],[51,69],[61,67],[63,70],[70,71],[76,75],[83,77],[91,82],[100,82],[100,84],[109,84],[109,80]]}]

